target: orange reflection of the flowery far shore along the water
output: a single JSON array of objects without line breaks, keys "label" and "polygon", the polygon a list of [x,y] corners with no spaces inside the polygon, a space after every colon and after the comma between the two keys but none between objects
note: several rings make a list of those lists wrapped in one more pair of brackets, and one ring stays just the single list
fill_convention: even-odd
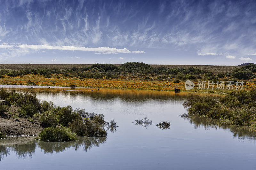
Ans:
[{"label": "orange reflection of the flowery far shore along the water", "polygon": [[[207,93],[179,92],[174,91],[157,91],[157,90],[137,90],[137,89],[100,89],[91,91],[92,88],[68,88],[68,87],[52,87],[36,86],[28,88],[20,85],[0,85],[1,88],[15,89],[21,92],[35,92],[36,94],[44,94],[51,96],[61,96],[65,98],[90,97],[92,99],[109,100],[114,98],[122,98],[124,100],[145,101],[147,99],[167,100],[170,98],[184,99],[191,95],[205,96]],[[65,89],[65,91],[62,91]],[[94,88],[95,89],[95,88]],[[214,97],[223,97],[221,94],[211,94]],[[178,100],[179,101],[179,100]]]}]

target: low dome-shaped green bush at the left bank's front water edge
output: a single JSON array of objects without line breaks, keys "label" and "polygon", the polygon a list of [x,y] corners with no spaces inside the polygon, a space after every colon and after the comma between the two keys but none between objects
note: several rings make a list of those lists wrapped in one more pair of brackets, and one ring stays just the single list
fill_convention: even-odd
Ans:
[{"label": "low dome-shaped green bush at the left bank's front water edge", "polygon": [[38,134],[37,139],[44,142],[68,142],[77,140],[74,135],[69,134],[64,129],[53,127],[44,128],[44,130]]}]

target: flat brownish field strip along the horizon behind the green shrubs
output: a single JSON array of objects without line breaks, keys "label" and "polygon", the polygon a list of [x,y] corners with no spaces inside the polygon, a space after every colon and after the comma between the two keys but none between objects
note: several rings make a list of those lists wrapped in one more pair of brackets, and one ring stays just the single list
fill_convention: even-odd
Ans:
[{"label": "flat brownish field strip along the horizon behind the green shrubs", "polygon": [[[92,64],[0,64],[0,69],[7,70],[23,70],[23,69],[47,69],[57,67],[59,69],[71,68],[71,67],[84,67],[91,66]],[[115,64],[116,66],[120,66],[120,64]],[[239,68],[242,66],[206,66],[206,65],[150,65],[152,67],[165,66],[168,68],[180,68],[180,67],[196,67],[201,70],[212,71],[213,73],[226,73],[233,72],[235,68]]]}]

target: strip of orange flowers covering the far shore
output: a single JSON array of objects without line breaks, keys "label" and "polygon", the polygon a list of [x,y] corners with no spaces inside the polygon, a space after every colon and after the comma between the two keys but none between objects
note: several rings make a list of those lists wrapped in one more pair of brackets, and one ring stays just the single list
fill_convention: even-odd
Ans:
[{"label": "strip of orange flowers covering the far shore", "polygon": [[[126,80],[125,77],[118,79],[92,79],[92,78],[83,78],[79,79],[76,77],[69,78],[64,77],[59,74],[53,74],[51,78],[45,78],[43,75],[28,74],[24,76],[10,77],[5,76],[0,79],[0,84],[7,85],[41,85],[41,86],[62,86],[69,87],[71,84],[75,84],[77,87],[89,87],[89,88],[113,88],[113,89],[147,89],[147,90],[166,90],[174,91],[175,88],[180,89],[180,91],[196,91],[196,92],[207,92],[207,93],[230,93],[235,89],[216,89],[216,84],[214,89],[207,89],[207,84],[205,89],[194,89],[186,90],[185,89],[185,80],[180,80],[180,82],[175,83],[175,78],[168,81],[162,80],[141,80],[140,78],[133,78],[132,80]],[[196,84],[198,81],[206,81],[197,79],[194,80]],[[225,80],[220,80],[225,81]],[[256,79],[247,80],[246,84],[244,83],[243,89],[252,89],[256,87]]]}]

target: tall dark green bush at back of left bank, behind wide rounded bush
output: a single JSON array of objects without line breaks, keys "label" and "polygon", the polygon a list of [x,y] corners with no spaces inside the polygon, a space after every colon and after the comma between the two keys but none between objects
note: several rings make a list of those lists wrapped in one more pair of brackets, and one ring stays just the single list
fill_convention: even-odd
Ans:
[{"label": "tall dark green bush at back of left bank, behind wide rounded bush", "polygon": [[72,122],[75,119],[81,119],[79,114],[73,112],[71,106],[60,108],[57,112],[57,117],[63,126],[68,126],[68,122]]}]

